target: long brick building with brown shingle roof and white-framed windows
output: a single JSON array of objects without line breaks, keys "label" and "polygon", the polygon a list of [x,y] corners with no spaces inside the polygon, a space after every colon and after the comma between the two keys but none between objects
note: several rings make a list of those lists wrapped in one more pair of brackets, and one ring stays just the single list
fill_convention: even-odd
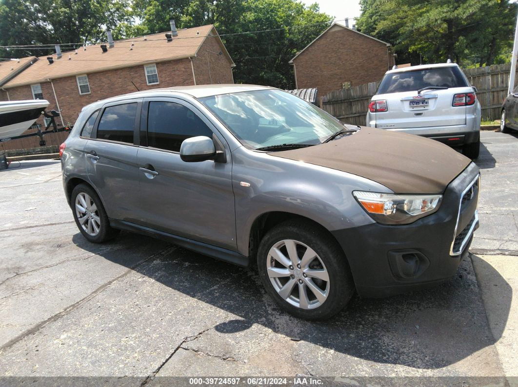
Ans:
[{"label": "long brick building with brown shingle roof and white-framed windows", "polygon": [[[46,99],[48,110],[61,112],[56,123],[68,125],[84,105],[105,98],[152,88],[234,83],[234,62],[212,25],[168,34],[117,40],[105,48],[89,45],[53,54],[50,60],[0,62],[0,101]],[[12,66],[16,74],[8,70]],[[38,123],[43,125],[43,119]]]}]

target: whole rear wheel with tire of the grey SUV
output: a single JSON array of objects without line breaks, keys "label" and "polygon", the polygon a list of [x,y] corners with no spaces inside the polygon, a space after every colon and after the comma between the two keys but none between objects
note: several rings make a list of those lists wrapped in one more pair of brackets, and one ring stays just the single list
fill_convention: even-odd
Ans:
[{"label": "whole rear wheel with tire of the grey SUV", "polygon": [[103,243],[117,234],[110,226],[103,203],[97,193],[87,184],[78,184],[70,195],[70,204],[77,228],[90,242]]}]

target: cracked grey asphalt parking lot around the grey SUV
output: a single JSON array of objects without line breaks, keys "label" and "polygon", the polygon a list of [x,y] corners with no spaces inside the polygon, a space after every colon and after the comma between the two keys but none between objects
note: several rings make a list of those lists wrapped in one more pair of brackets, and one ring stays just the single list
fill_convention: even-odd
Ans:
[{"label": "cracked grey asphalt parking lot around the grey SUV", "polygon": [[324,322],[281,312],[253,269],[125,232],[87,242],[59,161],[0,171],[0,376],[517,376],[518,136],[482,142],[458,275]]}]

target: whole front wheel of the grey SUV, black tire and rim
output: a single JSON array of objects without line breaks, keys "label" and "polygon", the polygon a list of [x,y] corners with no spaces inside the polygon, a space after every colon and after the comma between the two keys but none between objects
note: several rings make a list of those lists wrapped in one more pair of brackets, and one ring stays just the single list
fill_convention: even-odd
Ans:
[{"label": "whole front wheel of the grey SUV, black tire and rim", "polygon": [[341,247],[310,222],[286,221],[269,230],[259,245],[257,267],[270,297],[299,318],[332,317],[354,293]]}]

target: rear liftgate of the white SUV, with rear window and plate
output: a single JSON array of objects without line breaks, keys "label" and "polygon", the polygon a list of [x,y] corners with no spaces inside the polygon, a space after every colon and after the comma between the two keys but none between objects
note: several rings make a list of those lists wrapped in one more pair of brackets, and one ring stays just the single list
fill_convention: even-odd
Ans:
[{"label": "rear liftgate of the white SUV, with rear window and plate", "polygon": [[[424,87],[447,89],[419,89]],[[453,106],[456,94],[472,92],[458,67],[435,67],[385,75],[378,95],[385,100],[386,112],[376,113],[376,127],[409,129],[466,124],[466,106]]]}]

